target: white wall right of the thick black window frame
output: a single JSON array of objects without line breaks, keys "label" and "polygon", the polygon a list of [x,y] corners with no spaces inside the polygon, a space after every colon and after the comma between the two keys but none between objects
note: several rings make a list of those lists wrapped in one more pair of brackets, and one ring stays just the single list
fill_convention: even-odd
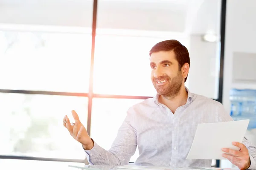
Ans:
[{"label": "white wall right of the thick black window frame", "polygon": [[[233,83],[232,64],[234,52],[256,53],[256,0],[227,0],[223,105],[230,113],[229,92],[231,88],[253,88],[256,84]],[[241,65],[246,67],[246,65]],[[222,167],[231,166],[221,161]]]}]

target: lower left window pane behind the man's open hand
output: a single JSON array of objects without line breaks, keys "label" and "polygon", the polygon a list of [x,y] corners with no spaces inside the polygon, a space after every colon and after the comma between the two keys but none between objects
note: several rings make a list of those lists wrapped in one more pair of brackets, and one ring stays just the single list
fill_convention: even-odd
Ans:
[{"label": "lower left window pane behind the man's open hand", "polygon": [[63,126],[79,113],[87,125],[87,97],[0,93],[0,155],[84,159],[81,144]]}]

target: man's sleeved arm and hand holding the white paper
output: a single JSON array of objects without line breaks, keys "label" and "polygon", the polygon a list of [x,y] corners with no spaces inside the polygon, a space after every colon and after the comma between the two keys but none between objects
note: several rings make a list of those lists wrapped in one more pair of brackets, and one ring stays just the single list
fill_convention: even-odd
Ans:
[{"label": "man's sleeved arm and hand holding the white paper", "polygon": [[[221,105],[221,103],[218,103],[218,112],[217,112],[216,116],[217,116],[218,122],[233,121],[232,117],[225,111],[225,109],[224,109],[223,105]],[[237,144],[237,146],[239,146],[239,144]],[[244,147],[244,149],[242,150],[243,146],[245,146],[246,148]],[[233,164],[238,166],[239,164],[233,162],[232,159],[235,159],[235,161],[237,160],[239,162],[239,159],[242,158],[243,156],[244,156],[244,159],[247,159],[247,157],[248,157],[249,167],[247,169],[256,169],[256,147],[244,137],[240,148],[241,148],[241,150],[237,151],[237,152],[234,152],[234,150],[225,151],[225,152],[229,152],[231,154],[236,153],[239,155],[236,157],[226,156],[226,158],[229,159]],[[244,151],[244,154],[242,154],[242,151]],[[242,161],[240,160],[239,163],[241,164],[241,162]],[[241,168],[241,169],[243,169],[243,168]]]}]

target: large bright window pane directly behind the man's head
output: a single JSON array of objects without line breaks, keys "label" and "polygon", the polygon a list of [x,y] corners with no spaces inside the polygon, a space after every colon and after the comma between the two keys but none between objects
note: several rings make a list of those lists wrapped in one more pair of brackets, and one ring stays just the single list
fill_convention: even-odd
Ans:
[{"label": "large bright window pane directly behind the man's head", "polygon": [[186,86],[217,99],[220,18],[221,0],[99,0],[94,92],[153,96],[148,52],[159,41],[176,39],[190,53]]}]

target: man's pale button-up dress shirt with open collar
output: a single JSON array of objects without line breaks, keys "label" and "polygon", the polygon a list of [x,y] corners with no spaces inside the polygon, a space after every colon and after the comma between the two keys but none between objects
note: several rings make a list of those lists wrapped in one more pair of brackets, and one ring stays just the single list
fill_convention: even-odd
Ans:
[{"label": "man's pale button-up dress shirt with open collar", "polygon": [[[85,150],[89,162],[93,165],[125,165],[138,146],[140,156],[136,165],[211,167],[212,160],[186,159],[197,125],[233,119],[220,102],[186,90],[187,102],[178,107],[175,114],[158,102],[158,95],[129,108],[110,150],[103,149],[96,141],[91,150]],[[256,147],[245,138],[243,144],[250,154],[249,169],[254,169]]]}]

